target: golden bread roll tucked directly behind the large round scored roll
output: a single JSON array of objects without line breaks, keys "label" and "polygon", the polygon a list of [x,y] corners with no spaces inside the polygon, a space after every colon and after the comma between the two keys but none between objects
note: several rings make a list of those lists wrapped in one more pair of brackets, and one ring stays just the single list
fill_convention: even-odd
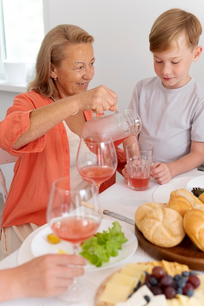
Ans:
[{"label": "golden bread roll tucked directly behind the large round scored roll", "polygon": [[170,197],[168,207],[176,210],[181,217],[183,217],[186,211],[193,208],[187,198],[182,196]]}]

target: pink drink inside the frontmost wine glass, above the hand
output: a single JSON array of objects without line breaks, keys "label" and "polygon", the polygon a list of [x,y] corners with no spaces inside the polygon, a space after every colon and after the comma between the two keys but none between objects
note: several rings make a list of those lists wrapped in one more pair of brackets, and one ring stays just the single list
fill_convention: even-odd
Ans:
[{"label": "pink drink inside the frontmost wine glass, above the hand", "polygon": [[98,228],[98,223],[88,217],[69,216],[56,219],[51,225],[53,232],[61,239],[71,243],[81,243],[93,236]]}]

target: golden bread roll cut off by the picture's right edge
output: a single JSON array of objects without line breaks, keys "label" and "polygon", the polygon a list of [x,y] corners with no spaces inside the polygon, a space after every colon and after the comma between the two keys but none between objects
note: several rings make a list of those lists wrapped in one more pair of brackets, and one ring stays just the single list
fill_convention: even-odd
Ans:
[{"label": "golden bread roll cut off by the picture's right edge", "polygon": [[183,217],[186,234],[204,252],[204,211],[191,209]]}]

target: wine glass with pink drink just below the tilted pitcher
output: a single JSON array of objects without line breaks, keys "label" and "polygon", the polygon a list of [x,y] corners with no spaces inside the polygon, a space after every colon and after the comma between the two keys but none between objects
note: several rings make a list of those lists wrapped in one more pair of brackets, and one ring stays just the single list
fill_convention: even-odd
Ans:
[{"label": "wine glass with pink drink just below the tilted pitcher", "polygon": [[101,183],[111,178],[117,168],[117,155],[112,138],[99,134],[82,137],[76,166],[84,180],[94,180],[99,193]]}]

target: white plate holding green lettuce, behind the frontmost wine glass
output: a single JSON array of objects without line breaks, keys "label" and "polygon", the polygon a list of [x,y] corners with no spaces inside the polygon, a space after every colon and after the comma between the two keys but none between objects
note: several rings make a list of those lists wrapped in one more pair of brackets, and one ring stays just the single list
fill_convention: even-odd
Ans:
[{"label": "white plate holding green lettuce, behind the frontmost wine glass", "polygon": [[[98,228],[98,232],[102,232],[103,230],[108,230],[109,227],[113,227],[112,220],[102,219],[101,224]],[[132,232],[128,227],[122,225],[121,229],[125,237],[128,239],[122,245],[122,250],[118,251],[118,256],[111,257],[109,262],[103,263],[101,267],[95,267],[91,263],[88,263],[85,267],[86,271],[98,271],[102,269],[106,269],[109,267],[113,267],[119,263],[125,262],[136,252],[138,247],[138,240],[134,232]],[[19,264],[23,262],[27,262],[34,257],[38,257],[41,255],[45,255],[48,253],[58,253],[59,249],[63,249],[66,252],[71,254],[71,244],[66,241],[61,241],[58,244],[51,244],[47,241],[46,235],[51,233],[52,230],[50,227],[45,224],[42,227],[35,230],[31,233],[26,240],[24,240],[22,246],[19,250],[18,262]]]}]

